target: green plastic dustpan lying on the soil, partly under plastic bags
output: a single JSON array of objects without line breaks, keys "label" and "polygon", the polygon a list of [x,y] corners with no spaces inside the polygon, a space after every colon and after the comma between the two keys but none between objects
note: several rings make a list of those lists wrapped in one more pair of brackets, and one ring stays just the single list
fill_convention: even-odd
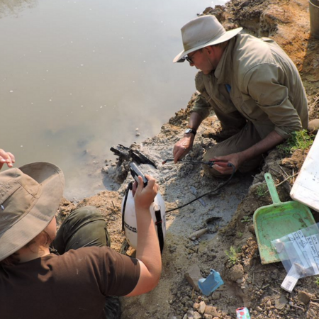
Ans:
[{"label": "green plastic dustpan lying on the soil, partly under plastic bags", "polygon": [[254,212],[253,220],[260,259],[262,264],[270,264],[280,262],[276,250],[272,247],[272,240],[307,228],[315,224],[315,220],[310,209],[302,203],[298,201],[281,203],[271,174],[264,174],[264,179],[274,203],[259,207]]}]

